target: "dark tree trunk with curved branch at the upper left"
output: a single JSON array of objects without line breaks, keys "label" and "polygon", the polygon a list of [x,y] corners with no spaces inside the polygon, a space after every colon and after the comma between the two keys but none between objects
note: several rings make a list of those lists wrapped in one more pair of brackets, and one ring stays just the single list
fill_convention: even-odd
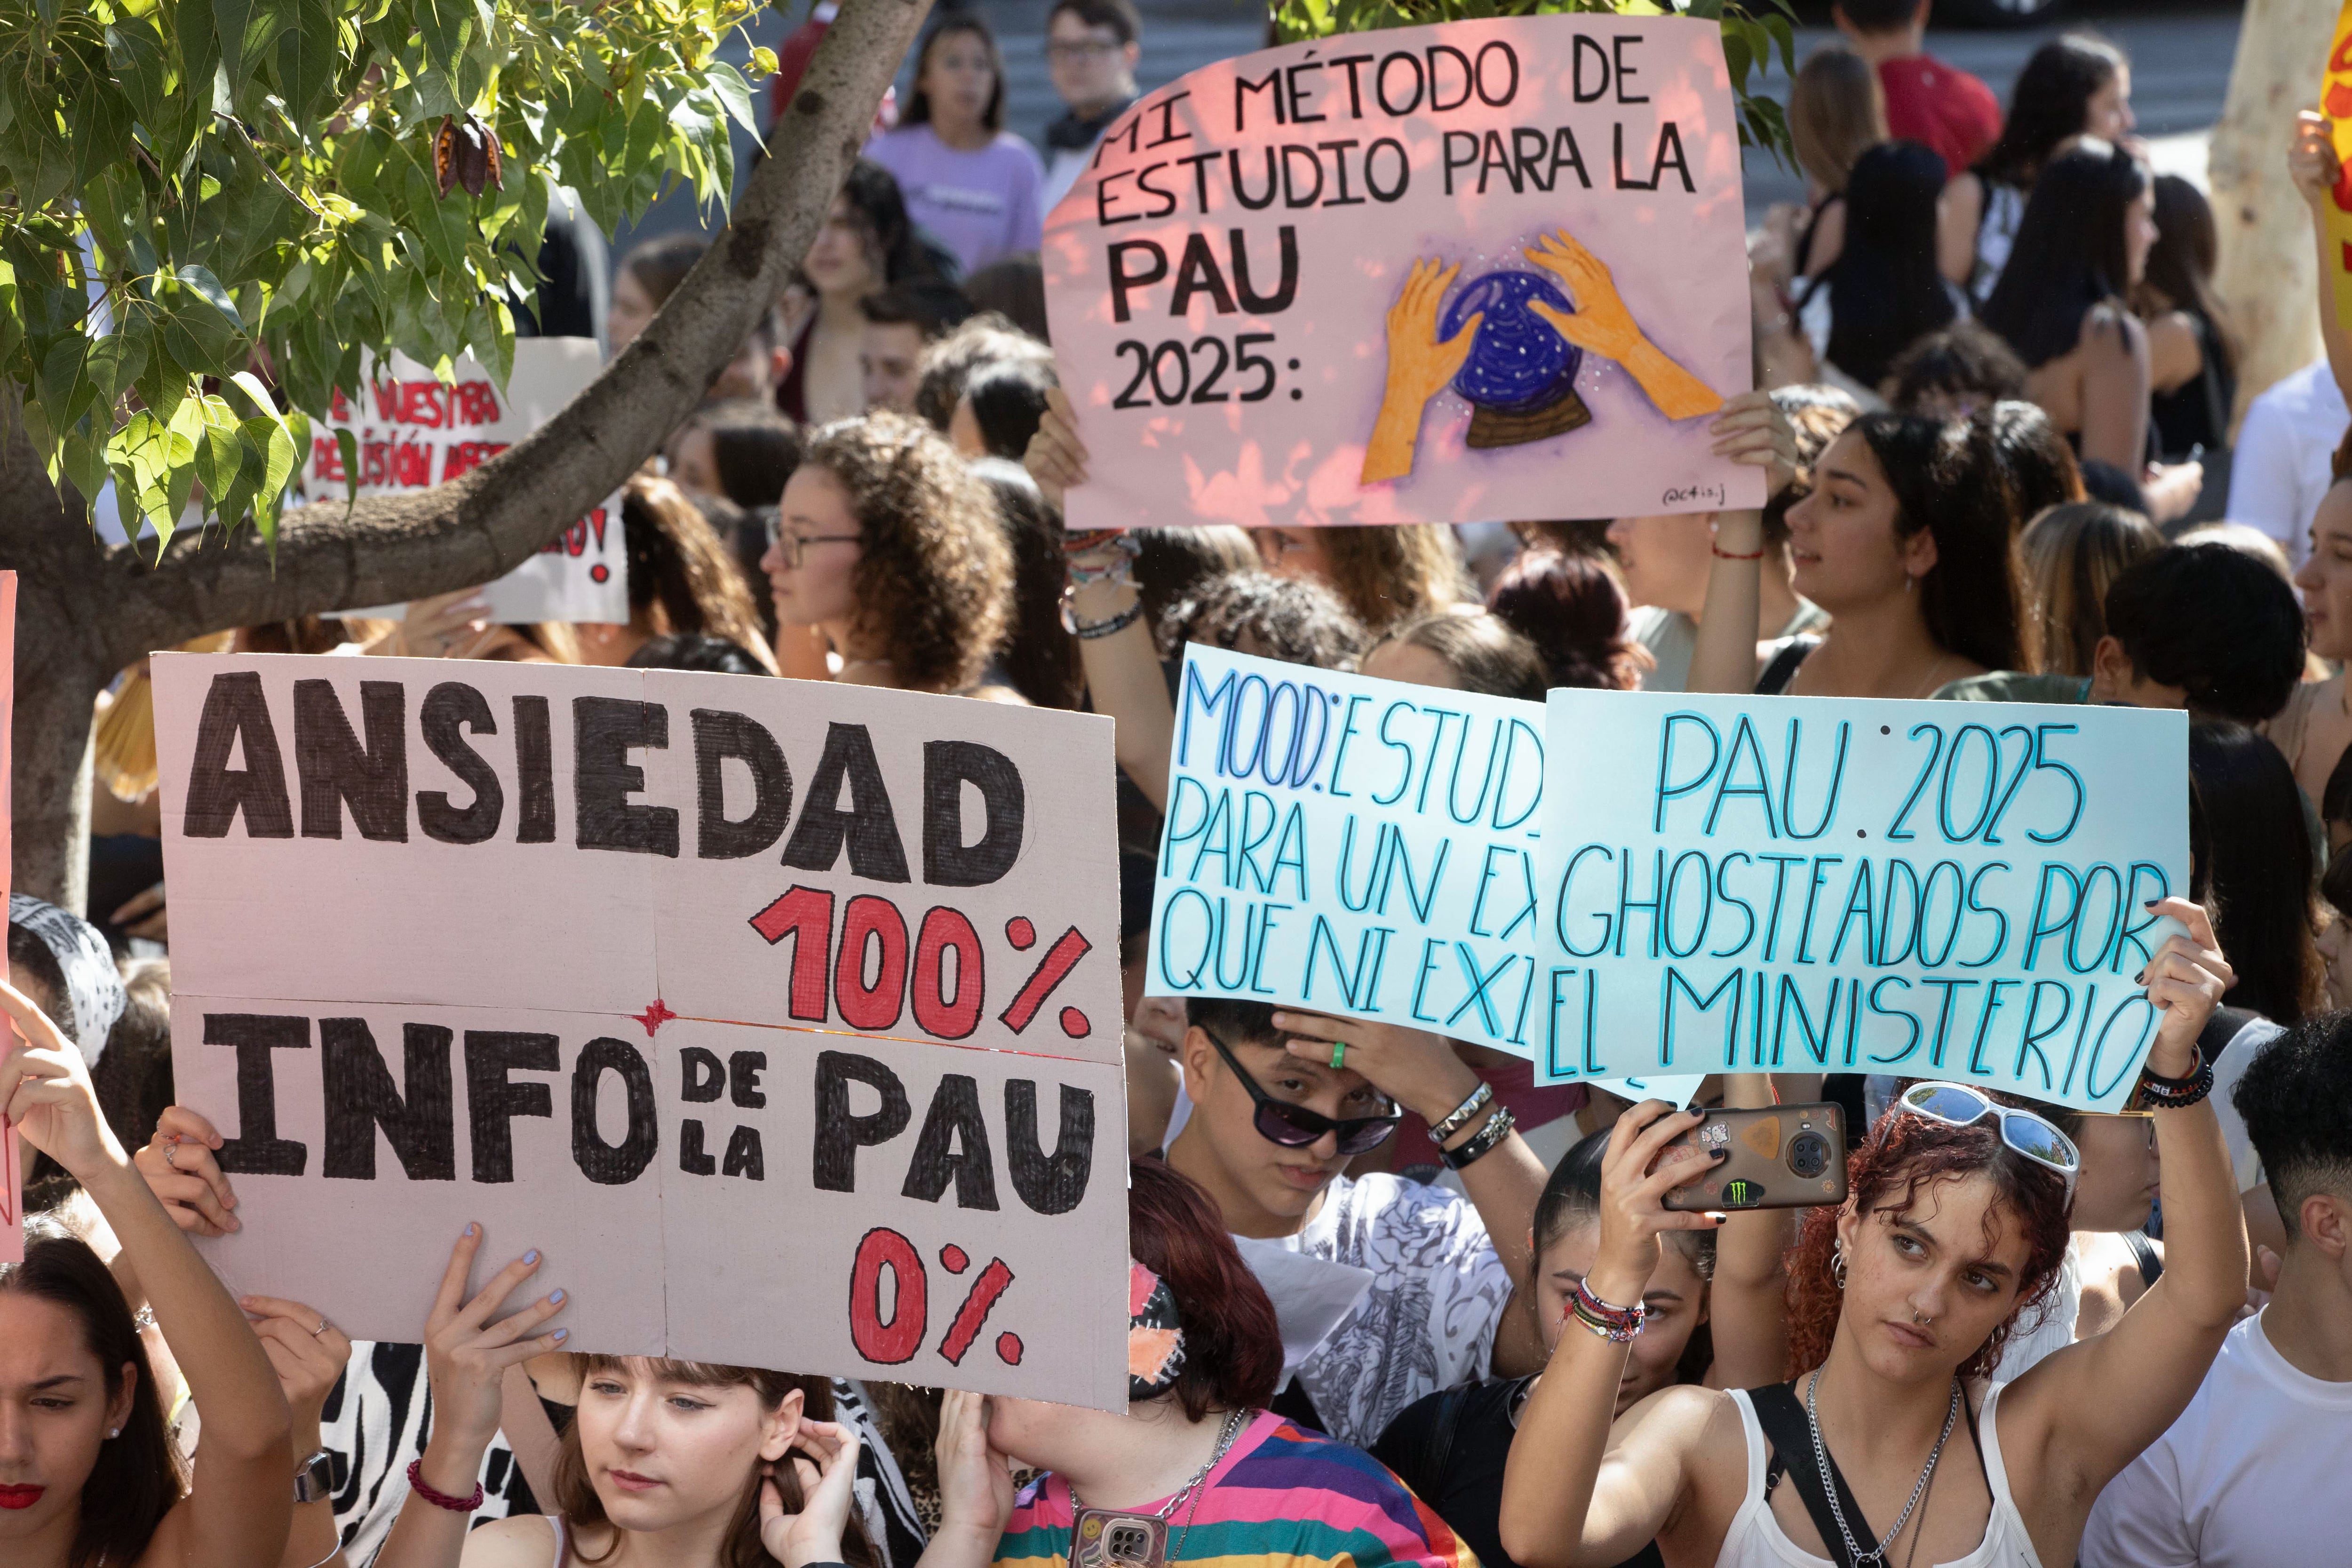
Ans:
[{"label": "dark tree trunk with curved branch at the upper left", "polygon": [[113,672],[191,637],[487,583],[609,496],[677,428],[807,256],[929,0],[847,0],[769,132],[724,233],[553,421],[463,477],[183,531],[158,567],[66,512],[0,404],[0,569],[16,583],[14,886],[78,910],[89,724]]}]

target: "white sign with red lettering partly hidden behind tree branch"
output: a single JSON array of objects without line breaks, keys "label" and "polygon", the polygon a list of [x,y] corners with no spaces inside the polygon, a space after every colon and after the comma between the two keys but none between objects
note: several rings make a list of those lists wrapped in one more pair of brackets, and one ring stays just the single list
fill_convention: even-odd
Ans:
[{"label": "white sign with red lettering partly hidden behind tree branch", "polygon": [[[452,381],[407,355],[362,357],[358,388],[334,395],[334,407],[310,416],[310,461],[303,494],[334,501],[447,484],[487,463],[539,425],[602,369],[593,339],[520,339],[515,369],[501,393],[489,371],[461,357]],[[348,449],[346,449],[348,437]],[[539,555],[482,585],[489,618],[628,621],[628,548],[621,538],[621,491],[548,541]],[[405,607],[353,607],[355,616],[400,616]]]}]

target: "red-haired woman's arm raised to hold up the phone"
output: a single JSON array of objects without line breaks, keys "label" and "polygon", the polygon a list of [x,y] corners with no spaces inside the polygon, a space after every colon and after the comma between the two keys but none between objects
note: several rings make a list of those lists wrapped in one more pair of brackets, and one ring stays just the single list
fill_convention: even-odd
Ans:
[{"label": "red-haired woman's arm raised to hold up the phone", "polygon": [[[1668,1190],[1696,1180],[1710,1161],[1649,1171],[1670,1138],[1703,1119],[1670,1112],[1663,1100],[1618,1117],[1602,1159],[1602,1241],[1583,1281],[1602,1305],[1642,1300],[1658,1267],[1658,1232],[1715,1227],[1715,1215],[1663,1206]],[[1656,1540],[1689,1490],[1689,1455],[1719,1394],[1661,1389],[1625,1413],[1611,1443],[1625,1354],[1623,1342],[1571,1316],[1529,1394],[1503,1469],[1501,1512],[1503,1549],[1526,1568],[1621,1563]]]}]

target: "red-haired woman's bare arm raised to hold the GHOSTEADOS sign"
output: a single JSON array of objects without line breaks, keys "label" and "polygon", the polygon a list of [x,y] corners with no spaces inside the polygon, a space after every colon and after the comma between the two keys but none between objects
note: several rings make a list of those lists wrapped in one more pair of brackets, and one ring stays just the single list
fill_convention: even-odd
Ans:
[{"label": "red-haired woman's bare arm raised to hold the GHOSTEADOS sign", "polygon": [[[2166,898],[2154,912],[2180,919],[2187,936],[2164,943],[2145,969],[2147,999],[2164,1009],[2147,1072],[2190,1077],[2199,1070],[2197,1034],[2234,976],[2199,905]],[[2246,1227],[2220,1119],[2199,1100],[2157,1110],[2154,1121],[2164,1279],[2114,1328],[2037,1363],[2002,1396],[2002,1415],[2023,1418],[2016,1450],[2030,1455],[2009,1474],[2056,1488],[2044,1497],[2079,1497],[2082,1514],[2187,1408],[2246,1305]],[[2011,1443],[2006,1425],[2002,1443]]]}]

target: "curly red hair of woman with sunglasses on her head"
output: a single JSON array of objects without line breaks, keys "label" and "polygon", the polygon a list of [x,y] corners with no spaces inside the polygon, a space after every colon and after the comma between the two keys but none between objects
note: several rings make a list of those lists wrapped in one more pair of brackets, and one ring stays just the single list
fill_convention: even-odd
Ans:
[{"label": "curly red hair of woman with sunglasses on her head", "polygon": [[[1950,1126],[1929,1117],[1889,1112],[1870,1128],[1863,1147],[1846,1157],[1846,1190],[1853,1208],[1870,1215],[1877,1208],[1907,1213],[1924,1187],[1957,1182],[1969,1175],[1992,1180],[1994,1206],[2006,1208],[2025,1232],[2025,1272],[2018,1276],[2018,1305],[1959,1363],[1962,1378],[1983,1378],[2002,1359],[2009,1333],[2027,1307],[2049,1309],[2058,1288],[2058,1265],[2067,1241],[2065,1178],[2025,1159],[1994,1131],[1992,1121]],[[1837,1208],[1806,1208],[1797,1251],[1788,1258],[1788,1375],[1797,1378],[1830,1359],[1844,1293],[1830,1272],[1837,1246]],[[1987,1237],[1992,1211],[1985,1213]],[[2039,1316],[2034,1319],[2042,1321]]]}]

